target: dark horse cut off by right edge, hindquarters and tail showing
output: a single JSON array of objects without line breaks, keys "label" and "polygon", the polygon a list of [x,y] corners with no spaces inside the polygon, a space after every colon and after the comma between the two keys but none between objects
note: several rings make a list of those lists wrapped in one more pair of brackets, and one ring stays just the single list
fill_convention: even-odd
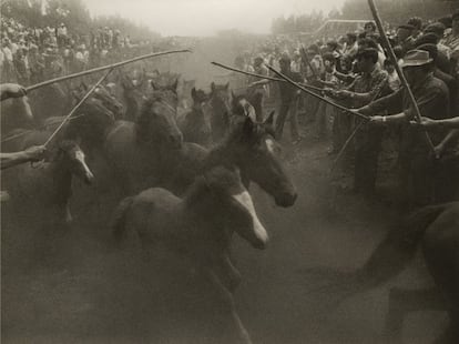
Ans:
[{"label": "dark horse cut off by right edge, hindquarters and tail showing", "polygon": [[409,312],[445,310],[450,324],[436,343],[459,343],[459,202],[415,211],[396,225],[355,272],[320,271],[334,280],[325,292],[355,295],[382,285],[398,275],[422,247],[436,286],[425,290],[390,289],[386,330],[391,342],[400,341]]}]

